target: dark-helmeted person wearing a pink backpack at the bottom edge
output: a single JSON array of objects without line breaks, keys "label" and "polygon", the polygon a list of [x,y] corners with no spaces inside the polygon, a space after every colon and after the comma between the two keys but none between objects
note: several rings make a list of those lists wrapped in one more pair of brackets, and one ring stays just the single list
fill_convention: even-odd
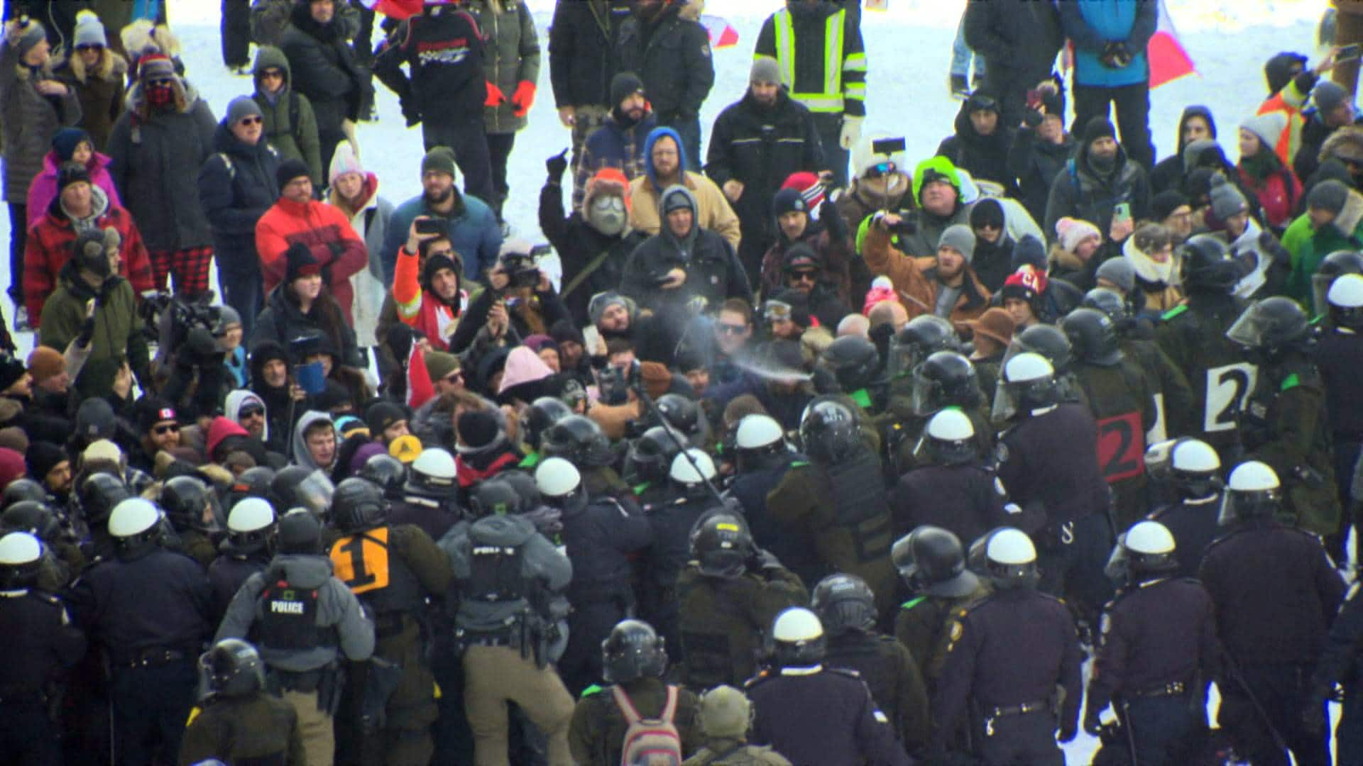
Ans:
[{"label": "dark-helmeted person wearing a pink backpack at the bottom edge", "polygon": [[578,766],[653,763],[639,761],[645,754],[673,755],[671,763],[680,763],[699,747],[699,702],[692,691],[662,680],[668,653],[653,626],[617,623],[601,642],[601,667],[609,686],[587,687],[572,710],[568,746]]}]

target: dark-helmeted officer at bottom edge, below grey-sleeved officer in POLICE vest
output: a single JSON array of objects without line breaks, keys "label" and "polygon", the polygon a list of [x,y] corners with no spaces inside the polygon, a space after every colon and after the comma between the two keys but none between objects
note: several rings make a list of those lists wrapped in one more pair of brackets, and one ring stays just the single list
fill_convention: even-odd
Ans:
[{"label": "dark-helmeted officer at bottom edge, below grey-sleeved officer in POLICE vest", "polygon": [[[185,728],[180,763],[309,763],[298,716],[264,688],[255,647],[229,638],[199,657],[209,696]],[[315,762],[315,761],[312,761]]]}]

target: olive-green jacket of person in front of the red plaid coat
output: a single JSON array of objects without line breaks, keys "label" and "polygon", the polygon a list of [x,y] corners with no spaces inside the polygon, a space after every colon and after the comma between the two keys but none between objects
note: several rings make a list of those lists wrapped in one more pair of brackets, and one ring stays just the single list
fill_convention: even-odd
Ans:
[{"label": "olive-green jacket of person in front of the red plaid coat", "polygon": [[61,269],[57,290],[42,304],[38,342],[65,352],[80,334],[86,318],[86,303],[94,300],[94,334],[90,339],[90,358],[75,379],[80,398],[106,397],[113,391],[113,378],[127,360],[138,383],[150,390],[150,357],[147,338],[138,316],[132,285],[123,277],[110,277],[99,289],[91,288],[75,273],[72,262]]}]

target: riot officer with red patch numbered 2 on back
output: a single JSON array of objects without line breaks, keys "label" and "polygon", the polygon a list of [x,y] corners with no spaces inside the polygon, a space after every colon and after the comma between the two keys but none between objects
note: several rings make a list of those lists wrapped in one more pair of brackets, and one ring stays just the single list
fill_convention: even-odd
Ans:
[{"label": "riot officer with red patch numbered 2 on back", "polygon": [[1126,358],[1116,324],[1101,311],[1075,308],[1060,320],[1074,349],[1074,376],[1099,427],[1099,468],[1112,488],[1114,526],[1145,515],[1145,435],[1159,420],[1156,386]]}]

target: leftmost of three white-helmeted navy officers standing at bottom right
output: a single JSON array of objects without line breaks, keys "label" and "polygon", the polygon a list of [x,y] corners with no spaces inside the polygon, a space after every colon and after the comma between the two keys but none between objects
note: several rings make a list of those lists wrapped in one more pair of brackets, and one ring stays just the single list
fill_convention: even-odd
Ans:
[{"label": "leftmost of three white-helmeted navy officers standing at bottom right", "polygon": [[[975,755],[990,766],[1065,763],[1056,747],[1078,729],[1084,654],[1074,617],[1037,592],[1032,540],[1013,527],[985,544],[994,593],[955,613],[946,662],[932,695],[935,750],[973,705]],[[1056,701],[1056,687],[1063,699]]]}]

